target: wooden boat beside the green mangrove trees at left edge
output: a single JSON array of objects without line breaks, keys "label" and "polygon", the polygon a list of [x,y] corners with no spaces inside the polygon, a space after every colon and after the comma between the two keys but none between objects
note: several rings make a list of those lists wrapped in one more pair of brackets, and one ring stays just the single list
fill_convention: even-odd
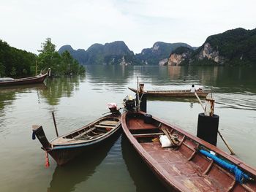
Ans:
[{"label": "wooden boat beside the green mangrove trees at left edge", "polygon": [[12,85],[25,85],[25,84],[34,84],[42,83],[45,78],[50,74],[50,69],[45,74],[39,74],[34,77],[25,77],[20,79],[12,79],[10,77],[0,78],[0,86],[12,86]]}]

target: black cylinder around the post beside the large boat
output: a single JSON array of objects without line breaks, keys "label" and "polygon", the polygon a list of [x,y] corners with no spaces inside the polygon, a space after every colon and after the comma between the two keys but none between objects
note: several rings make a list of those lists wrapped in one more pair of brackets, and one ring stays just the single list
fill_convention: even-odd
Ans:
[{"label": "black cylinder around the post beside the large boat", "polygon": [[197,137],[211,145],[217,145],[219,115],[207,116],[203,112],[198,114]]}]

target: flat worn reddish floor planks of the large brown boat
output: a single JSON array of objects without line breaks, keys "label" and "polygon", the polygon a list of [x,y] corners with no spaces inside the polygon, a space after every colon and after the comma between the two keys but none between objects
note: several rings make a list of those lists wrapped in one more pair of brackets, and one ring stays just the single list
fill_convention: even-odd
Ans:
[{"label": "flat worn reddish floor planks of the large brown boat", "polygon": [[[169,177],[174,177],[183,183],[189,191],[228,191],[233,185],[232,177],[223,180],[222,176],[221,180],[218,180],[219,177],[213,178],[208,174],[202,174],[202,167],[197,166],[193,161],[188,161],[179,150],[162,148],[159,142],[140,143],[140,145],[169,174]],[[221,185],[227,183],[230,185]]]}]

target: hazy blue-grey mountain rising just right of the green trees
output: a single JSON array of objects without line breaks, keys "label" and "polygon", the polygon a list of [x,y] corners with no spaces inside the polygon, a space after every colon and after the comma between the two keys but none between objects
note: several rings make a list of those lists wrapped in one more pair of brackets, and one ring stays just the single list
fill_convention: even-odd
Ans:
[{"label": "hazy blue-grey mountain rising just right of the green trees", "polygon": [[122,41],[110,42],[105,45],[94,44],[86,51],[73,50],[70,45],[64,45],[59,49],[59,53],[64,50],[69,51],[80,64],[140,64],[135,54]]}]

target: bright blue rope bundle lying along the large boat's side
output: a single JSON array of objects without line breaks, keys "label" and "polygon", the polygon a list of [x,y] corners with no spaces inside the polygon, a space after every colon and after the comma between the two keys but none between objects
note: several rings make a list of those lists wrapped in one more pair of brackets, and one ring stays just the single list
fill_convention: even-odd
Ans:
[{"label": "bright blue rope bundle lying along the large boat's side", "polygon": [[244,172],[242,172],[240,169],[238,169],[236,165],[228,164],[226,161],[223,161],[221,158],[218,158],[217,156],[211,153],[208,153],[208,151],[206,150],[199,150],[199,151],[203,155],[206,155],[208,158],[212,158],[220,166],[230,170],[230,172],[233,172],[236,176],[236,181],[238,181],[239,183],[242,184],[244,182],[244,179],[250,180],[250,177]]}]

